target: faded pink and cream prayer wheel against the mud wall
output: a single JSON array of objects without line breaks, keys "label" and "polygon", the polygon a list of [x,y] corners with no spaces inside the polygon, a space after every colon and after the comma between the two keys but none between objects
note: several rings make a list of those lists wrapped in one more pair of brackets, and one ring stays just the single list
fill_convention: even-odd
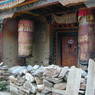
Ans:
[{"label": "faded pink and cream prayer wheel against the mud wall", "polygon": [[18,55],[28,57],[32,54],[33,22],[20,20],[18,24]]}]

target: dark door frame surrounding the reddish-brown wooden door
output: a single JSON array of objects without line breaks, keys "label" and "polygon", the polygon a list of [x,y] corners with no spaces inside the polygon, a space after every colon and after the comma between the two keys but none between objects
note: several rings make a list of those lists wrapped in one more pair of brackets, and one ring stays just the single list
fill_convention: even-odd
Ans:
[{"label": "dark door frame surrounding the reddish-brown wooden door", "polygon": [[[58,31],[56,32],[56,63],[59,66],[62,66],[62,37],[63,36],[67,36],[67,35],[73,35],[77,37],[77,64],[78,64],[78,32],[70,32],[72,30],[69,30],[68,32],[64,32],[64,30],[62,31]],[[76,65],[77,65],[76,64]]]}]

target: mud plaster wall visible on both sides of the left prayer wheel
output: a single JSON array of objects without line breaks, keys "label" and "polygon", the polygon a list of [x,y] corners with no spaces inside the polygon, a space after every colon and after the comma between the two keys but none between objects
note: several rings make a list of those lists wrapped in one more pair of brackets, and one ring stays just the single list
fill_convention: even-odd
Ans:
[{"label": "mud plaster wall visible on both sides of the left prayer wheel", "polygon": [[[49,25],[44,18],[34,21],[32,57],[27,58],[27,64],[47,65],[49,63]],[[4,20],[3,27],[3,62],[8,66],[18,63],[18,33],[17,22],[14,19]]]}]

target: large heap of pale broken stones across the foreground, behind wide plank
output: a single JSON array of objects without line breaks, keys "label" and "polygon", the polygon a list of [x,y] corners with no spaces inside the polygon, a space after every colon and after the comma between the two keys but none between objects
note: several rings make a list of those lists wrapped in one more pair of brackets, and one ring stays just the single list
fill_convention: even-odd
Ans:
[{"label": "large heap of pale broken stones across the foreground, behind wide plank", "polygon": [[[12,95],[63,95],[56,91],[65,91],[70,68],[56,65],[15,66],[10,68],[10,91]],[[80,94],[86,88],[87,73],[81,77]]]}]

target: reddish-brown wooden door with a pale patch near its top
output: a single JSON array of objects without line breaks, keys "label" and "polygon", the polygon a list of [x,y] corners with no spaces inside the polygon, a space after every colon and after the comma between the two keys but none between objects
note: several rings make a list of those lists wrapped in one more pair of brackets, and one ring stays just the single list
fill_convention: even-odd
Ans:
[{"label": "reddish-brown wooden door with a pale patch near its top", "polygon": [[77,64],[77,37],[62,37],[62,66],[73,66]]}]

